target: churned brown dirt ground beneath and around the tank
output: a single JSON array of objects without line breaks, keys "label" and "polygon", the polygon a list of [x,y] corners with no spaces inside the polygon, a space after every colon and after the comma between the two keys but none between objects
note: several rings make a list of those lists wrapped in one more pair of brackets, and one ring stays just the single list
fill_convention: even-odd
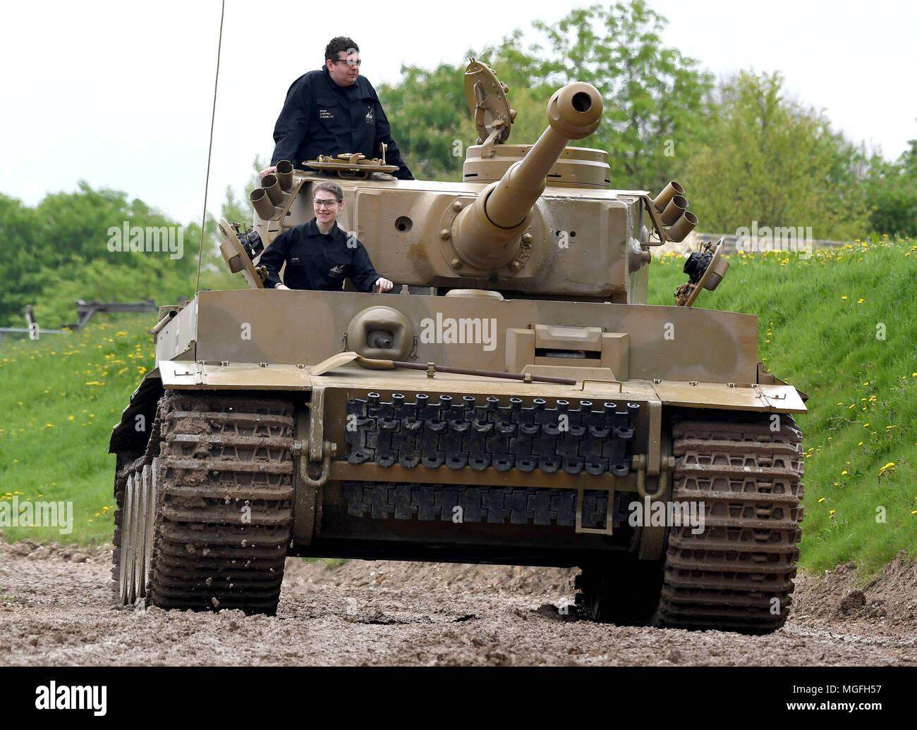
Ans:
[{"label": "churned brown dirt ground beneath and around the tank", "polygon": [[917,666],[917,565],[797,579],[768,637],[558,613],[576,570],[288,560],[276,617],[116,608],[111,553],[0,543],[2,665]]}]

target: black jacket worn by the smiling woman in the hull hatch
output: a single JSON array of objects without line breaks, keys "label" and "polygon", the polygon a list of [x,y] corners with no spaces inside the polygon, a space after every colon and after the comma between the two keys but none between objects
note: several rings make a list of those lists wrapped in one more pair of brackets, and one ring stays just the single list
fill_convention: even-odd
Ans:
[{"label": "black jacket worn by the smiling woman in the hull hatch", "polygon": [[259,266],[270,274],[265,287],[280,283],[284,263],[283,283],[290,289],[339,290],[348,277],[357,289],[369,291],[379,278],[356,236],[348,236],[337,223],[330,233],[319,233],[315,218],[284,231],[264,249]]}]

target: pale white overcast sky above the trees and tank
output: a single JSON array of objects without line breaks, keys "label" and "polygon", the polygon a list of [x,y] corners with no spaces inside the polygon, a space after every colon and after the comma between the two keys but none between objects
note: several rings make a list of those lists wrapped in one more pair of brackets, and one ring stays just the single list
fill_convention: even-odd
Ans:
[{"label": "pale white overcast sky above the trees and tank", "polygon": [[[648,4],[668,19],[664,44],[717,76],[780,71],[790,97],[889,159],[917,137],[917,4]],[[322,65],[329,38],[354,38],[361,73],[378,87],[397,82],[402,64],[456,64],[470,47],[586,5],[226,0],[208,212],[219,213],[227,185],[242,191],[256,155],[271,157],[286,90]],[[200,221],[219,23],[219,0],[0,0],[0,193],[35,205],[86,180]]]}]

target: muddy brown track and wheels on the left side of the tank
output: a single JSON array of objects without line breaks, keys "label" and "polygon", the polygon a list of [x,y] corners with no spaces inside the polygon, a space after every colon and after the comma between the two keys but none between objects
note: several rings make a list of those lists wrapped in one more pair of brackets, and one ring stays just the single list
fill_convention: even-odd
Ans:
[{"label": "muddy brown track and wheels on the left side of the tank", "polygon": [[285,400],[163,396],[145,452],[117,455],[116,602],[276,613],[292,441]]}]

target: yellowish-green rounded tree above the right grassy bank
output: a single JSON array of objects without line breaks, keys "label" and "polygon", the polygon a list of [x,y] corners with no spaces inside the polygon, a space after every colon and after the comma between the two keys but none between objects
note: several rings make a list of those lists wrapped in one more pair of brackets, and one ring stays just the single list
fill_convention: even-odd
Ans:
[{"label": "yellowish-green rounded tree above the right grassy bank", "polygon": [[849,240],[866,229],[862,154],[823,114],[787,100],[779,73],[740,72],[709,124],[713,141],[695,146],[687,173],[702,230],[757,221]]}]

